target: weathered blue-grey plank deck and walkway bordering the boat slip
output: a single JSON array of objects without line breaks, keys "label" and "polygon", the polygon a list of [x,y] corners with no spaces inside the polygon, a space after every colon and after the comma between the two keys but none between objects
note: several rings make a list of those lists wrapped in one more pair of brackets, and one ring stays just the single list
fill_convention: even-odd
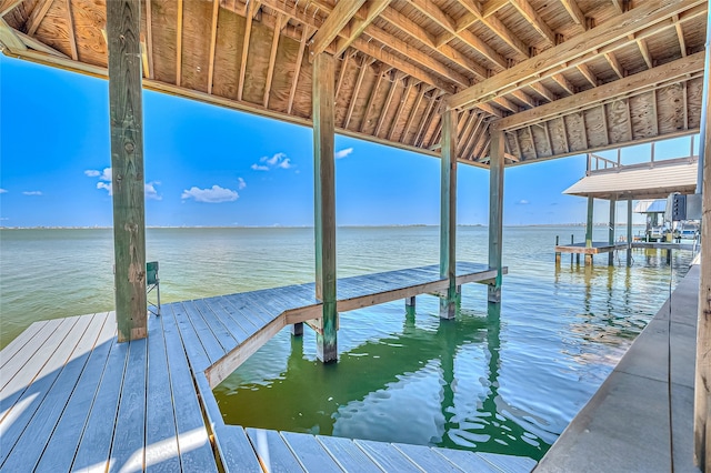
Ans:
[{"label": "weathered blue-grey plank deck and walkway bordering the boat slip", "polygon": [[[493,276],[458,264],[458,284]],[[339,281],[339,310],[424,292],[437,266]],[[226,425],[216,385],[279,330],[313,318],[313,284],[183,301],[117,343],[112,312],[37,322],[0,352],[0,471],[530,471],[488,453]],[[212,439],[212,442],[211,442]]]}]

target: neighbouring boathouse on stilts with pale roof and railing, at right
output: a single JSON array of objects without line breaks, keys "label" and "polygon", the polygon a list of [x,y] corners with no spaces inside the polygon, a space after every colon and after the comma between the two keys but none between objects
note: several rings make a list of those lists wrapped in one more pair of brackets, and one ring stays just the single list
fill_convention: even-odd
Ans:
[{"label": "neighbouring boathouse on stilts with pale roof and railing, at right", "polygon": [[[651,159],[641,164],[621,164],[618,150],[617,161],[588,153],[585,177],[563,191],[564,194],[588,198],[588,220],[585,223],[585,241],[581,243],[558,244],[555,242],[555,261],[560,262],[561,253],[584,254],[585,264],[592,263],[593,254],[608,253],[608,263],[613,264],[614,251],[627,250],[627,264],[632,264],[633,248],[665,249],[668,259],[671,250],[692,249],[691,244],[672,242],[634,241],[632,235],[632,201],[641,199],[667,199],[678,192],[692,194],[695,191],[699,158],[693,149],[687,158],[654,161],[652,143]],[[610,201],[610,224],[608,241],[592,240],[594,199]],[[627,238],[615,241],[614,221],[618,201],[627,201]],[[578,256],[580,258],[580,256]]]}]

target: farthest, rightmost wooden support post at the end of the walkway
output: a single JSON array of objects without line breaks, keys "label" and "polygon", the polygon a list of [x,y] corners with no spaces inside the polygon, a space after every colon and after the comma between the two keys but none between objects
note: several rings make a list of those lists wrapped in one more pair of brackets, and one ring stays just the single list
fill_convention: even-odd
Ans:
[{"label": "farthest, rightmost wooden support post at the end of the walkway", "polygon": [[489,302],[501,302],[501,250],[503,240],[503,132],[490,129],[489,147],[489,268],[497,270],[497,279],[489,284]]}]

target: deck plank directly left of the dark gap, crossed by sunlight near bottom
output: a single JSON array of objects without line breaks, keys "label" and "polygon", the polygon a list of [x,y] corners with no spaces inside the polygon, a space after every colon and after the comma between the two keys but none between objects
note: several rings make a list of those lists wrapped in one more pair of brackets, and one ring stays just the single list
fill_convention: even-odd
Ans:
[{"label": "deck plank directly left of the dark gap, crossed by sunlight near bottom", "polygon": [[[177,305],[170,304],[169,306],[174,309]],[[166,332],[166,352],[168,354],[170,385],[176,410],[180,465],[183,471],[217,471],[210,440],[200,412],[200,402],[193,378],[190,374],[189,361],[183,351],[186,340],[181,338],[182,333],[179,332],[173,311],[167,310],[161,315],[161,321]],[[192,341],[194,342],[197,339],[192,339]],[[184,346],[187,350],[188,345]],[[202,349],[200,348],[200,350]],[[200,350],[197,353],[207,358],[204,352]],[[202,364],[204,360],[190,360],[190,363],[193,362]],[[196,372],[194,366],[192,371]]]}]

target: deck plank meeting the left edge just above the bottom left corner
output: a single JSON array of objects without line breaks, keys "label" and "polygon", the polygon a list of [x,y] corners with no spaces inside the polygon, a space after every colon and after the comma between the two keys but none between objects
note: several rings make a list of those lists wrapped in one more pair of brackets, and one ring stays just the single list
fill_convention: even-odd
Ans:
[{"label": "deck plank meeting the left edge just above the bottom left corner", "polygon": [[77,341],[81,339],[92,319],[93,316],[91,315],[78,318],[76,324],[72,324],[72,326],[79,336],[63,336],[60,339],[61,342],[57,350],[50,354],[49,360],[41,366],[40,371],[37,372],[32,369],[32,371],[37,373],[37,376],[29,385],[21,390],[21,395],[17,396],[16,392],[4,397],[6,400],[13,400],[14,402],[12,402],[12,405],[7,407],[7,410],[3,409],[4,417],[0,422],[0,464],[7,460],[16,442],[44,401],[54,381],[61,373],[64,363],[71,359],[71,354],[77,348]]}]

